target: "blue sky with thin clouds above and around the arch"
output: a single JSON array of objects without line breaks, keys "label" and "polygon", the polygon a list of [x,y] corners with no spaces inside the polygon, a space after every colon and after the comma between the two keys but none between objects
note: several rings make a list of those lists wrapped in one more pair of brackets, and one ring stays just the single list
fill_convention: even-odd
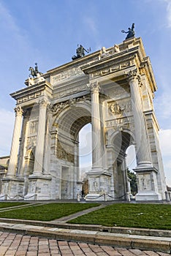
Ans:
[{"label": "blue sky with thin clouds above and around the arch", "polygon": [[171,0],[0,0],[0,156],[9,154],[15,100],[28,68],[58,67],[71,61],[77,44],[92,52],[125,39],[135,23],[151,58],[158,91],[154,99],[167,184],[171,186]]}]

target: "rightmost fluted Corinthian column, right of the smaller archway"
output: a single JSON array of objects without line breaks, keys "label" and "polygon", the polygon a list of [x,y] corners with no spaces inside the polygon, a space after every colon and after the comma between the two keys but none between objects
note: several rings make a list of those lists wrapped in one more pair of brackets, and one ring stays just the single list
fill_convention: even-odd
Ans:
[{"label": "rightmost fluted Corinthian column, right of the smaller archway", "polygon": [[131,89],[132,110],[134,115],[134,129],[137,144],[137,167],[152,167],[151,151],[145,127],[145,117],[142,110],[140,75],[137,74],[137,70],[130,71],[127,75]]}]

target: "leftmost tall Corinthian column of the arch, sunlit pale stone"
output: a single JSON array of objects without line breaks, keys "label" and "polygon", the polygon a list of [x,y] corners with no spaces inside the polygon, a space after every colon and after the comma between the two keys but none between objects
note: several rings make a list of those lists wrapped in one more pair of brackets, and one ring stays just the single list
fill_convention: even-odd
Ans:
[{"label": "leftmost tall Corinthian column of the arch, sunlit pale stone", "polygon": [[22,124],[22,114],[23,110],[20,106],[15,108],[15,127],[12,135],[12,146],[10,151],[9,158],[9,167],[7,176],[15,176],[16,167],[18,164],[18,148],[19,148],[19,139],[20,139],[20,129]]}]

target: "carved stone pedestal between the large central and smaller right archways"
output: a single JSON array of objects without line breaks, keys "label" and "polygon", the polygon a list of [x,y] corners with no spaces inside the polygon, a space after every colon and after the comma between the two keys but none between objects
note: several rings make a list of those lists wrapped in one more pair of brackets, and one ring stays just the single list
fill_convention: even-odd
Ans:
[{"label": "carved stone pedestal between the large central and smaller right archways", "polygon": [[110,193],[110,178],[111,175],[106,172],[91,171],[87,173],[88,176],[88,195],[86,200],[112,200],[107,196]]}]

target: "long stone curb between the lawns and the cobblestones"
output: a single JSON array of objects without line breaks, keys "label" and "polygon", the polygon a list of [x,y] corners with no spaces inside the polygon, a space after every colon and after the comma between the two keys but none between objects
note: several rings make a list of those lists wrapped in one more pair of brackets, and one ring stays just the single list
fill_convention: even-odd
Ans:
[{"label": "long stone curb between the lawns and the cobblestones", "polygon": [[[101,226],[101,230],[88,230],[87,225],[85,225],[87,229],[85,227],[83,229],[83,225],[82,225],[82,229],[80,228],[75,229],[75,227],[72,226],[71,228],[71,226],[69,226],[68,224],[62,225],[65,227],[59,227],[60,224],[59,225],[53,224],[52,226],[52,224],[48,223],[51,226],[50,227],[50,226],[47,226],[46,224],[47,222],[34,222],[33,224],[33,222],[30,222],[30,221],[26,223],[26,220],[19,222],[19,220],[15,221],[14,219],[13,220],[10,219],[10,221],[7,222],[7,219],[6,219],[4,222],[0,222],[0,230],[3,232],[20,233],[28,236],[53,238],[58,241],[75,241],[75,242],[83,242],[88,244],[125,247],[126,249],[144,249],[144,250],[151,250],[154,252],[171,253],[171,238],[168,236],[164,237],[164,236],[135,235],[130,233],[129,234],[121,233],[121,230],[119,233],[117,232],[108,233],[108,232],[102,232],[102,226]],[[66,227],[70,227],[70,228],[66,228]],[[92,229],[95,229],[95,226],[91,226],[91,227]],[[113,228],[111,228],[111,230],[113,230]],[[117,227],[117,230],[119,230],[118,227]],[[124,230],[126,231],[126,228],[124,228]],[[127,230],[131,230],[131,229],[127,229]]]}]

